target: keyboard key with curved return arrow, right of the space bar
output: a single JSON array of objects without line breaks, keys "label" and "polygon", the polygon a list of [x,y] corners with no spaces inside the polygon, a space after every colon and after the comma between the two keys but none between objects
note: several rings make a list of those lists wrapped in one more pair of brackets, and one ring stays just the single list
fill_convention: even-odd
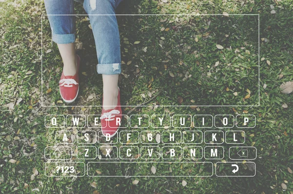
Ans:
[{"label": "keyboard key with curved return arrow, right of the space bar", "polygon": [[254,162],[217,162],[216,176],[255,176]]}]

